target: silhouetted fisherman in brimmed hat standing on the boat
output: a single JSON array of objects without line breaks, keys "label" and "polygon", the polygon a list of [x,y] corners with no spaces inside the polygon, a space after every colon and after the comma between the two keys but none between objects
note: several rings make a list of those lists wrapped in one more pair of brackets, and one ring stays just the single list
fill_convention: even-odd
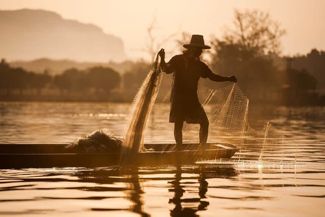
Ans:
[{"label": "silhouetted fisherman in brimmed hat standing on the boat", "polygon": [[175,123],[174,136],[176,148],[182,150],[183,143],[183,122],[200,124],[200,144],[203,149],[207,149],[206,141],[208,138],[209,121],[201,106],[197,89],[200,78],[209,78],[212,81],[237,82],[234,75],[226,77],[214,74],[209,67],[200,60],[202,49],[210,49],[204,45],[202,35],[192,35],[191,42],[183,45],[187,50],[183,54],[172,57],[165,63],[165,51],[161,49],[162,71],[167,74],[173,73],[171,108],[169,122]]}]

